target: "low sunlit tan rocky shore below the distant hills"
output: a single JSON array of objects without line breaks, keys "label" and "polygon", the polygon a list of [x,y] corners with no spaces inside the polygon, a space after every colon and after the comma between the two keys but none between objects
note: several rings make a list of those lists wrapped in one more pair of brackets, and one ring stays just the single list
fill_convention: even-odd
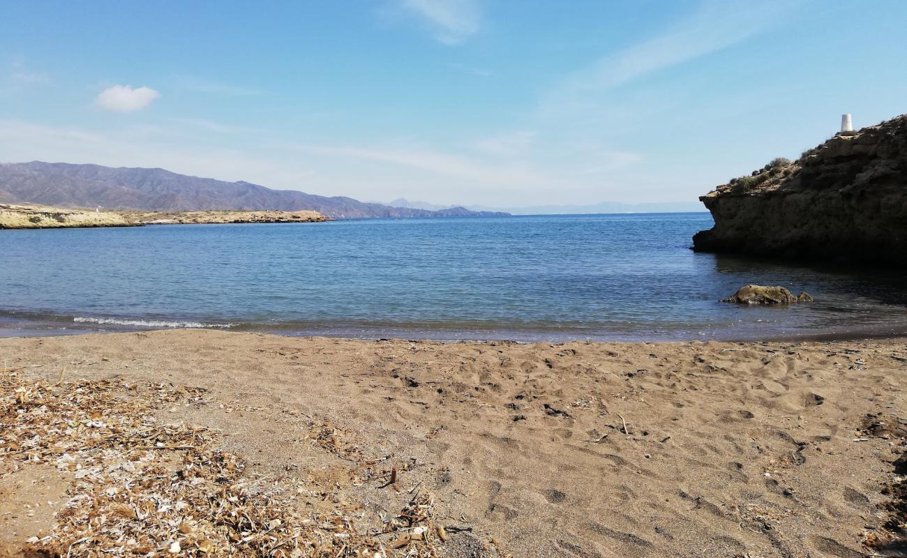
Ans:
[{"label": "low sunlit tan rocky shore below the distant hills", "polygon": [[166,224],[309,223],[331,220],[317,211],[114,211],[0,204],[0,229],[138,227]]}]

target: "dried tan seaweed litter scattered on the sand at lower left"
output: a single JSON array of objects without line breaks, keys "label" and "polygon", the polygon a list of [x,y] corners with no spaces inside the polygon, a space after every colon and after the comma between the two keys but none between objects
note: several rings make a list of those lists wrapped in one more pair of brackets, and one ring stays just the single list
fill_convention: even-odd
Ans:
[{"label": "dried tan seaweed litter scattered on the sand at lower left", "polygon": [[[0,472],[48,463],[73,478],[52,534],[29,539],[28,553],[430,558],[447,536],[425,492],[380,534],[356,531],[361,506],[298,513],[293,486],[247,475],[237,455],[220,449],[218,433],[153,416],[164,405],[204,403],[200,388],[122,377],[47,385],[3,370],[0,394]],[[336,426],[310,426],[312,443],[368,475],[384,460],[367,459]]]}]

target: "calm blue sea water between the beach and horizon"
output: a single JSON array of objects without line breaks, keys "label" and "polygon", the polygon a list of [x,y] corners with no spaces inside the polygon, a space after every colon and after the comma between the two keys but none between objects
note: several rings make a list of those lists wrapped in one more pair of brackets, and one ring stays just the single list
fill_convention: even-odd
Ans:
[{"label": "calm blue sea water between the beach and horizon", "polygon": [[[0,231],[0,336],[171,327],[361,338],[907,332],[898,274],[689,250],[707,213]],[[812,304],[718,302],[746,283]]]}]

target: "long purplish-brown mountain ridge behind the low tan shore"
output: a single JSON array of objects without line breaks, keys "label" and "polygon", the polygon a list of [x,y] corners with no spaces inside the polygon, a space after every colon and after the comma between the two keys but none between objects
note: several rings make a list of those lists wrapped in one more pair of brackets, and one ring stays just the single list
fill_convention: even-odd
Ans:
[{"label": "long purplish-brown mountain ridge behind the low tan shore", "polygon": [[366,217],[498,217],[461,207],[432,211],[364,203],[245,181],[186,176],[163,169],[111,168],[63,162],[0,164],[0,202],[114,210],[314,210],[335,219]]}]

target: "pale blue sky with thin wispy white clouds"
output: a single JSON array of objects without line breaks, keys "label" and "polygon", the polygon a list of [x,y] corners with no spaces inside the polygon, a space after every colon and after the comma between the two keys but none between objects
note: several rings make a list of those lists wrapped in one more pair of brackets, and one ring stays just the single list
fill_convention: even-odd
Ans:
[{"label": "pale blue sky with thin wispy white clouds", "polygon": [[0,0],[0,162],[520,206],[696,201],[907,113],[903,0]]}]

